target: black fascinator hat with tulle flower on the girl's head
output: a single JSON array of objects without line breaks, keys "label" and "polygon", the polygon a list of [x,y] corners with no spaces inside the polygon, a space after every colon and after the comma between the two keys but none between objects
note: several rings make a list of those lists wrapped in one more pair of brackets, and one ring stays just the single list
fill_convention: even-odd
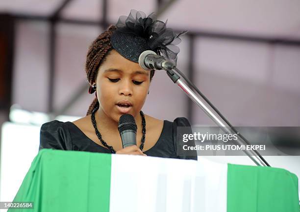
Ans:
[{"label": "black fascinator hat with tulle flower on the girl's head", "polygon": [[112,34],[110,42],[113,48],[130,61],[138,63],[139,56],[146,50],[176,62],[181,42],[180,35],[176,35],[166,23],[158,21],[151,13],[146,17],[141,11],[131,10],[129,16],[121,16],[116,24],[117,30]]}]

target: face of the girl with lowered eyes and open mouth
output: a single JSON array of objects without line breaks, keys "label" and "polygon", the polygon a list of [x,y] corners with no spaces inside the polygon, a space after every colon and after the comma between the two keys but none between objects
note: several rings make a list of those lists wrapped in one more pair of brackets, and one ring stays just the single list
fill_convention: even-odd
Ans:
[{"label": "face of the girl with lowered eyes and open mouth", "polygon": [[111,50],[100,65],[96,85],[100,108],[119,122],[125,113],[139,114],[149,90],[150,71]]}]

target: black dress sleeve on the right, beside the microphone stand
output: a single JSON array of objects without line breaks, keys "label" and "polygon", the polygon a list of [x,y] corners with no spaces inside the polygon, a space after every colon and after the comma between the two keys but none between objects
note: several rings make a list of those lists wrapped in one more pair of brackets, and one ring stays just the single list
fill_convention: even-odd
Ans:
[{"label": "black dress sleeve on the right, beside the microphone stand", "polygon": [[[184,128],[181,128],[181,130],[179,130],[177,127],[184,127]],[[187,118],[178,117],[173,122],[173,141],[174,141],[174,147],[175,147],[177,158],[197,160],[198,157],[197,157],[196,150],[183,150],[183,145],[187,145],[189,147],[195,146],[194,140],[189,140],[187,143],[184,143],[182,141],[183,133],[192,134],[193,133],[192,128]]]}]

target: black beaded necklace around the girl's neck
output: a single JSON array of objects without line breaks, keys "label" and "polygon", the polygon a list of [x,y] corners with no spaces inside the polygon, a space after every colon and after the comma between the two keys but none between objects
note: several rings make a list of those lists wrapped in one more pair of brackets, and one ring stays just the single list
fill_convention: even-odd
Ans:
[{"label": "black beaded necklace around the girl's neck", "polygon": [[[91,121],[92,121],[92,124],[95,128],[95,132],[96,132],[96,135],[97,137],[99,138],[101,144],[108,148],[110,150],[111,153],[116,153],[116,150],[112,147],[112,146],[109,146],[107,145],[107,143],[102,139],[102,136],[97,128],[97,124],[96,124],[96,119],[95,119],[95,112],[99,109],[99,104],[95,106],[94,110],[92,111],[92,114],[91,114]],[[141,145],[140,145],[140,149],[143,150],[144,148],[144,143],[145,143],[145,137],[146,137],[146,120],[145,120],[145,116],[144,116],[144,113],[142,112],[142,110],[140,111],[140,114],[142,116],[142,133],[143,133],[143,136],[142,136],[142,139],[141,139]]]}]

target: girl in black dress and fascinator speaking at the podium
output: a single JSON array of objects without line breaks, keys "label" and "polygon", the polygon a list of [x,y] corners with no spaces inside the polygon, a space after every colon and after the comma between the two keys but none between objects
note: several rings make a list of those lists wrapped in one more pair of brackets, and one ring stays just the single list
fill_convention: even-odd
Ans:
[{"label": "girl in black dress and fascinator speaking at the podium", "polygon": [[[180,35],[180,34],[179,34]],[[152,13],[131,10],[91,44],[86,60],[89,93],[96,98],[85,117],[75,122],[52,121],[41,127],[40,148],[149,155],[197,160],[196,151],[177,152],[177,127],[190,127],[186,118],[159,120],[142,112],[154,70],[138,64],[152,50],[175,60],[180,42]],[[131,114],[137,125],[137,145],[123,148],[118,131],[121,115]],[[192,144],[194,145],[194,142]]]}]

